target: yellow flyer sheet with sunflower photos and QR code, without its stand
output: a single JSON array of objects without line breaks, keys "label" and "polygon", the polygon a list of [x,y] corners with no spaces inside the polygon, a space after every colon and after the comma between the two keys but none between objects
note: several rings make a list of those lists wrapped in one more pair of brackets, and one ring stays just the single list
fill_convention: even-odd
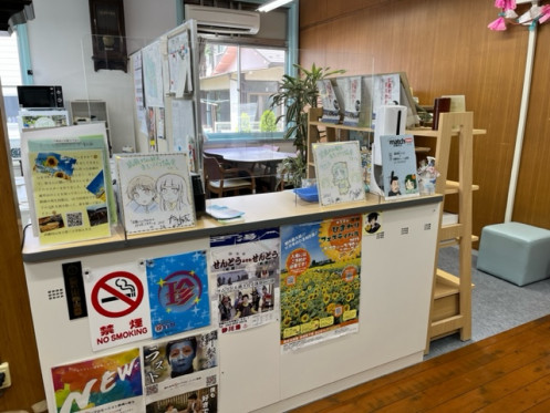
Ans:
[{"label": "yellow flyer sheet with sunflower photos and QR code, without its stand", "polygon": [[111,236],[101,149],[29,152],[40,244]]}]

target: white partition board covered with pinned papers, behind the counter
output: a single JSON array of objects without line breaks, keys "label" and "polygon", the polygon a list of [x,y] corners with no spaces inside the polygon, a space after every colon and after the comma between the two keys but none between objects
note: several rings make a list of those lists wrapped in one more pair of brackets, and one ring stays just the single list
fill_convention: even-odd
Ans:
[{"label": "white partition board covered with pinned papers, behind the counter", "polygon": [[129,56],[136,152],[186,152],[201,171],[199,47],[188,20]]}]

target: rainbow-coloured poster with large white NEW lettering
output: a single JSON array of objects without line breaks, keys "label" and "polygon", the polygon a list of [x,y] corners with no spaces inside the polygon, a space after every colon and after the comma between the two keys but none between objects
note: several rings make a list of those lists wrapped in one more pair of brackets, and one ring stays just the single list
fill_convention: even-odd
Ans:
[{"label": "rainbow-coloured poster with large white NEW lettering", "polygon": [[139,349],[52,368],[59,413],[143,412]]}]

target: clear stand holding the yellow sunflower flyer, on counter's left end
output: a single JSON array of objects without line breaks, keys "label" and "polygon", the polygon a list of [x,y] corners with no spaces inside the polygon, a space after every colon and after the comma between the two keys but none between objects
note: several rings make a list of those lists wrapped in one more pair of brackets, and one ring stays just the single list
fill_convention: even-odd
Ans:
[{"label": "clear stand holding the yellow sunflower flyer, on counter's left end", "polygon": [[42,245],[108,237],[116,223],[105,126],[82,126],[22,134],[31,221]]}]

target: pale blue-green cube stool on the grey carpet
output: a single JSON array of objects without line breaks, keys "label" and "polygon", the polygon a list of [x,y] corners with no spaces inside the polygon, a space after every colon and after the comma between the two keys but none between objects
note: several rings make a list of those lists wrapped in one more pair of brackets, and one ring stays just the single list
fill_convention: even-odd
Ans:
[{"label": "pale blue-green cube stool on the grey carpet", "polygon": [[477,268],[520,287],[550,277],[550,230],[520,223],[484,227]]}]

